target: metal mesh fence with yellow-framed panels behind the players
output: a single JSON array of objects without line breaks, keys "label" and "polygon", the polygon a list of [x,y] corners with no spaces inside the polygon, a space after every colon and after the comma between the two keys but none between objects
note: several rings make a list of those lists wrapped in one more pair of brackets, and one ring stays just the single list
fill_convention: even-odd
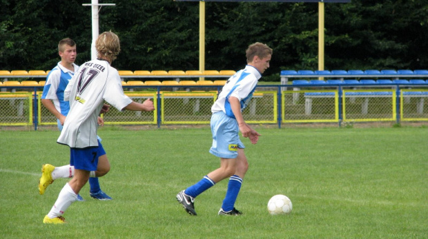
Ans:
[{"label": "metal mesh fence with yellow-framed panels behind the players", "polygon": [[[153,99],[154,112],[105,114],[106,125],[209,124],[221,86],[132,86],[134,101]],[[56,125],[41,105],[42,87],[0,87],[0,125]],[[427,85],[260,85],[244,110],[247,123],[342,123],[428,121]]]}]

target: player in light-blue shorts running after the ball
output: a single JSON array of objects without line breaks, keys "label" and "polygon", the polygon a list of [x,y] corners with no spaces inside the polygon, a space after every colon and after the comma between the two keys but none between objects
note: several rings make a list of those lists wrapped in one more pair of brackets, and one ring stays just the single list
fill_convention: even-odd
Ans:
[{"label": "player in light-blue shorts running after the ball", "polygon": [[210,153],[220,157],[220,167],[207,174],[195,185],[180,191],[176,198],[188,214],[196,215],[194,200],[210,187],[224,178],[229,178],[226,197],[223,200],[219,215],[239,216],[241,211],[235,209],[237,194],[242,180],[248,170],[248,161],[244,154],[242,136],[248,137],[251,143],[258,141],[260,134],[245,123],[242,110],[249,104],[258,80],[269,67],[272,49],[263,43],[249,45],[246,50],[247,65],[226,81],[222,92],[211,107],[211,132],[213,145]]}]

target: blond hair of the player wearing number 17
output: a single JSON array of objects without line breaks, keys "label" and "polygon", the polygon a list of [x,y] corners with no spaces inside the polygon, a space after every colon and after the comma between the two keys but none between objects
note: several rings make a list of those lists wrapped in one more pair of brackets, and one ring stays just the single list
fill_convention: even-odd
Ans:
[{"label": "blond hair of the player wearing number 17", "polygon": [[111,31],[103,32],[95,41],[95,49],[97,49],[98,58],[106,59],[111,63],[120,52],[119,37]]}]

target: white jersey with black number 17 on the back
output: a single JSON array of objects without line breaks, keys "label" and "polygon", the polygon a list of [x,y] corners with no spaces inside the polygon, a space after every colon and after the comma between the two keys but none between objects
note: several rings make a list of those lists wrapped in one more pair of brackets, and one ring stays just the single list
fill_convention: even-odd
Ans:
[{"label": "white jersey with black number 17 on the back", "polygon": [[70,101],[70,112],[57,142],[72,148],[98,146],[97,117],[104,101],[120,111],[132,103],[124,94],[117,70],[98,59],[79,67],[68,83],[64,100]]}]

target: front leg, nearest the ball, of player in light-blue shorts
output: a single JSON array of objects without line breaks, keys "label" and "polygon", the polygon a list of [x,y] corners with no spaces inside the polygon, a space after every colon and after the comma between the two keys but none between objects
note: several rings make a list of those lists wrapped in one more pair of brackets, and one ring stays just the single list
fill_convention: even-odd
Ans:
[{"label": "front leg, nearest the ball, of player in light-blue shorts", "polygon": [[226,196],[224,197],[222,208],[219,211],[219,215],[233,215],[237,216],[242,214],[241,211],[235,209],[235,202],[237,195],[240,192],[242,181],[248,170],[248,161],[244,154],[244,149],[238,149],[238,156],[235,164],[235,174],[229,178]]}]

